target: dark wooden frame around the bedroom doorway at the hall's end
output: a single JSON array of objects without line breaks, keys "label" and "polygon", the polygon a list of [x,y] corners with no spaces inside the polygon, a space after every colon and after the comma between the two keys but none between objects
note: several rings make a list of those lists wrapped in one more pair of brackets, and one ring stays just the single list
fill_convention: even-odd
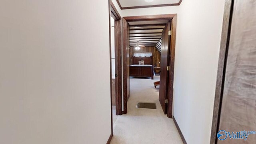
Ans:
[{"label": "dark wooden frame around the bedroom doorway at the hall's end", "polygon": [[177,27],[177,14],[160,14],[160,15],[148,15],[148,16],[127,16],[122,18],[122,41],[123,41],[123,94],[124,94],[124,112],[127,113],[127,100],[129,96],[127,96],[127,76],[125,74],[127,70],[127,40],[126,40],[126,26],[129,25],[128,22],[133,21],[148,21],[148,20],[172,20],[172,36],[170,40],[170,72],[169,72],[169,96],[168,96],[168,112],[167,116],[172,118],[172,102],[173,102],[173,88],[170,88],[170,84],[173,86],[173,78],[174,78],[174,57],[175,57],[175,43],[176,43],[176,27]]}]

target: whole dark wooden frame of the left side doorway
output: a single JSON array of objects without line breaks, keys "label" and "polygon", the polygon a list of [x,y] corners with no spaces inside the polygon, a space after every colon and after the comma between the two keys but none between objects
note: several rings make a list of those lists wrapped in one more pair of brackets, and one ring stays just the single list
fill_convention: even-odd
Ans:
[{"label": "whole dark wooden frame of the left side doorway", "polygon": [[122,84],[122,63],[121,63],[121,50],[122,50],[122,36],[121,36],[121,16],[116,10],[114,4],[111,0],[108,0],[108,24],[109,24],[109,54],[110,54],[110,106],[111,106],[111,134],[108,139],[107,144],[110,143],[112,136],[113,136],[113,110],[112,110],[112,60],[111,60],[111,16],[115,20],[115,71],[116,71],[116,80],[115,80],[115,86],[116,86],[116,114],[119,115],[122,114],[122,87],[120,86]]}]

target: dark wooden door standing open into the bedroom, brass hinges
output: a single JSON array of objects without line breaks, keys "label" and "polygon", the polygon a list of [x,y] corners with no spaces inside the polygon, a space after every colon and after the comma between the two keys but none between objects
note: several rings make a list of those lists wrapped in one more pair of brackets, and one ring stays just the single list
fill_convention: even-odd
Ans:
[{"label": "dark wooden door standing open into the bedroom, brass hinges", "polygon": [[169,71],[167,70],[167,66],[169,66],[170,63],[170,36],[168,35],[170,28],[171,24],[170,22],[168,22],[162,32],[159,101],[164,111],[164,114],[167,114],[166,100],[168,99],[169,86]]}]

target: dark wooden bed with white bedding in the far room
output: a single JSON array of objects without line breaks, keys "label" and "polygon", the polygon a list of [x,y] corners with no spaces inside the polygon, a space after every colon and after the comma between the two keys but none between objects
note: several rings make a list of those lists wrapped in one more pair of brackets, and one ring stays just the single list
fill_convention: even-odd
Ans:
[{"label": "dark wooden bed with white bedding in the far room", "polygon": [[[139,65],[139,61],[144,61],[143,65]],[[132,65],[130,65],[130,76],[134,77],[151,77],[154,79],[152,56],[132,56]]]}]

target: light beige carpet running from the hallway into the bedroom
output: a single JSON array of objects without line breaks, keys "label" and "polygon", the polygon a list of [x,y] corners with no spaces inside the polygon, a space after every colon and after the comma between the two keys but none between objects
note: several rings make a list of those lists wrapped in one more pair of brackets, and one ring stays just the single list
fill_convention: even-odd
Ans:
[{"label": "light beige carpet running from the hallway into the bedroom", "polygon": [[[154,80],[130,79],[128,113],[116,119],[110,144],[183,144],[173,120],[160,106],[155,81],[159,81],[159,76],[154,76]],[[136,108],[137,102],[156,103],[156,110]]]}]

